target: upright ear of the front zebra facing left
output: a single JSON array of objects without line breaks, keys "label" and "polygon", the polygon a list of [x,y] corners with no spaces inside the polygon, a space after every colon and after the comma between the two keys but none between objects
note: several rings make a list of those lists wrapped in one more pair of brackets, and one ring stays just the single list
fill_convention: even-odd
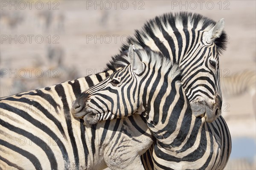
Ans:
[{"label": "upright ear of the front zebra facing left", "polygon": [[[132,46],[132,45],[130,45],[130,47],[129,47],[128,56],[131,59],[132,69],[139,71],[139,72],[143,71],[143,63],[140,61],[140,57],[138,56],[136,51],[134,51],[134,46]],[[137,73],[137,74],[139,74],[139,73]]]}]

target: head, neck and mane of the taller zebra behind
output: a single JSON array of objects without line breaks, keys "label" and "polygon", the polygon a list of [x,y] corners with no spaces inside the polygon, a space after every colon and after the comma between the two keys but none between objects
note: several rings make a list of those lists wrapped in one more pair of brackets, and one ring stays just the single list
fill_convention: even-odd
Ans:
[{"label": "head, neck and mane of the taller zebra behind", "polygon": [[117,68],[127,63],[122,58],[130,44],[136,49],[162,53],[170,62],[180,66],[192,113],[212,122],[221,114],[218,56],[227,43],[223,29],[224,19],[216,23],[196,13],[163,14],[145,23],[133,37],[128,37],[120,54],[113,56],[107,66]]}]

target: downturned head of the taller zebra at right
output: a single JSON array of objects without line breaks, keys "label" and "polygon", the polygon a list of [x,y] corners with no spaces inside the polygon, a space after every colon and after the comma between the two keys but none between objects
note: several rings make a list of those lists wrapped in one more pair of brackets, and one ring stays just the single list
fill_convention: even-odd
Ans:
[{"label": "downturned head of the taller zebra at right", "polygon": [[[212,122],[221,114],[218,41],[223,33],[224,19],[209,25],[201,33],[201,42],[185,54],[180,62],[182,85],[195,116],[204,115]],[[217,42],[216,42],[217,41]]]}]

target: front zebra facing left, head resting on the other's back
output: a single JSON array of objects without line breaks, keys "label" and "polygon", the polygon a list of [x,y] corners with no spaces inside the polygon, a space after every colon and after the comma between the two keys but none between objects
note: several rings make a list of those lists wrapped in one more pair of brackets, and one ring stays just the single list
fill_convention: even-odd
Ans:
[{"label": "front zebra facing left, head resting on the other's back", "polygon": [[160,53],[132,46],[127,61],[80,94],[71,112],[84,116],[86,125],[143,115],[157,139],[151,158],[155,169],[224,169],[231,152],[227,124],[222,116],[212,123],[193,116],[180,68]]}]

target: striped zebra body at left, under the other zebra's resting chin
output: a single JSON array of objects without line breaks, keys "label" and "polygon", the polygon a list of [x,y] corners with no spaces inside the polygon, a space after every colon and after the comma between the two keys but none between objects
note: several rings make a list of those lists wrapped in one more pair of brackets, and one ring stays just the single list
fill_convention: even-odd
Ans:
[{"label": "striped zebra body at left, under the other zebra's resting chin", "polygon": [[112,73],[0,98],[0,169],[152,169],[140,160],[153,143],[142,116],[85,127],[70,114],[82,91]]}]

